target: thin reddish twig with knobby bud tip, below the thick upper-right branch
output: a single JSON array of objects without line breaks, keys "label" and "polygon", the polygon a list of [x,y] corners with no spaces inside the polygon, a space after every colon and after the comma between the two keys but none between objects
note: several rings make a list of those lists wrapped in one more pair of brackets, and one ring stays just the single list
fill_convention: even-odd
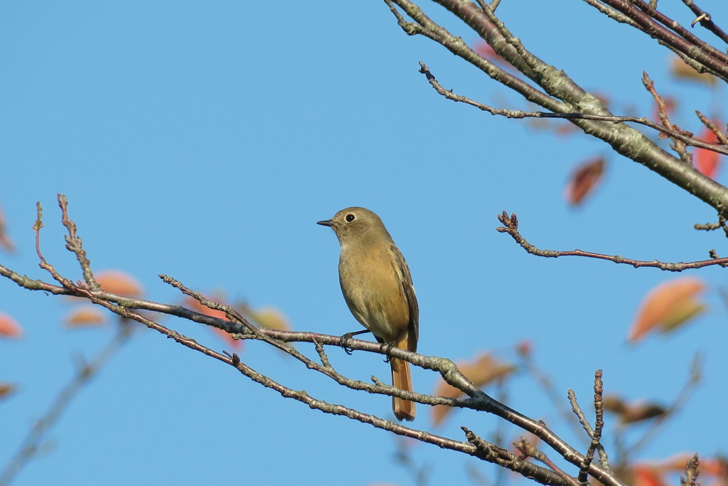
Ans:
[{"label": "thin reddish twig with knobby bud tip, below the thick upper-right branch", "polygon": [[542,250],[531,245],[531,243],[526,241],[526,239],[521,236],[521,233],[518,232],[518,218],[515,216],[515,213],[512,213],[510,216],[508,216],[508,214],[503,211],[502,214],[498,215],[498,220],[502,222],[502,224],[505,224],[505,227],[497,227],[496,231],[508,233],[509,235],[511,235],[515,242],[521,245],[521,247],[524,250],[528,251],[530,254],[536,256],[545,256],[546,258],[557,258],[558,256],[584,256],[587,258],[609,260],[609,262],[614,263],[628,264],[635,268],[652,267],[659,268],[660,270],[668,270],[670,272],[682,272],[683,270],[709,267],[711,265],[728,264],[728,258],[700,260],[697,262],[659,262],[657,260],[633,260],[630,258],[625,258],[624,256],[605,255],[601,253],[593,253],[591,251],[582,251],[578,249],[571,251]]}]

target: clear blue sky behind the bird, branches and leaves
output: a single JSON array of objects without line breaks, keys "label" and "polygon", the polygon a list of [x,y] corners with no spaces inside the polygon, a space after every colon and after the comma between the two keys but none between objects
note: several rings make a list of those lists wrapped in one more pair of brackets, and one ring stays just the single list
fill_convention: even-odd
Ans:
[{"label": "clear blue sky behind the bird, branches and leaves", "polygon": [[[423,7],[459,28],[440,7]],[[705,7],[718,23],[728,16],[717,2]],[[691,20],[684,7],[670,13]],[[681,101],[676,121],[684,128],[699,130],[693,109],[721,113],[722,91],[674,82],[667,51],[585,4],[504,1],[499,15],[536,55],[609,95],[615,113],[652,112],[643,70]],[[454,31],[475,44],[467,31]],[[0,262],[49,279],[33,251],[41,201],[47,259],[81,278],[63,248],[61,192],[92,266],[134,275],[149,299],[180,299],[157,278],[166,273],[199,291],[275,306],[295,329],[343,334],[358,324],[339,291],[338,243],[315,222],[363,205],[384,219],[411,267],[420,352],[462,359],[494,350],[513,361],[513,346],[530,340],[563,400],[574,388],[582,403],[598,368],[606,390],[667,403],[700,352],[702,385],[641,457],[725,452],[713,422],[728,399],[720,269],[689,274],[710,285],[708,313],[677,334],[629,348],[625,337],[641,298],[678,275],[539,259],[494,230],[505,209],[544,248],[690,261],[705,259],[709,248],[725,253],[721,235],[692,230],[715,219],[711,208],[612,155],[585,207],[567,208],[562,193],[571,168],[609,154],[607,147],[446,101],[418,73],[419,60],[457,93],[528,108],[437,44],[405,36],[381,1],[6,2],[0,204],[19,250]],[[0,342],[0,380],[20,384],[0,403],[0,464],[67,382],[74,356],[90,356],[112,335],[111,327],[66,331],[68,310],[66,299],[0,282],[0,311],[26,332]],[[226,348],[197,324],[164,324]],[[388,398],[340,391],[264,345],[248,342],[242,356],[292,388],[390,415]],[[331,350],[331,358],[362,380],[388,379],[377,356]],[[414,372],[419,391],[432,391],[437,380]],[[507,404],[574,441],[528,377],[510,383]],[[465,425],[487,437],[498,423],[456,412],[436,432],[463,439]],[[431,428],[426,407],[414,426]],[[507,429],[508,440],[517,435]],[[49,440],[48,452],[15,484],[413,484],[393,459],[396,439],[384,431],[282,399],[151,331],[79,394]],[[412,457],[427,463],[430,484],[463,482],[468,463],[494,473],[424,444],[414,445]]]}]

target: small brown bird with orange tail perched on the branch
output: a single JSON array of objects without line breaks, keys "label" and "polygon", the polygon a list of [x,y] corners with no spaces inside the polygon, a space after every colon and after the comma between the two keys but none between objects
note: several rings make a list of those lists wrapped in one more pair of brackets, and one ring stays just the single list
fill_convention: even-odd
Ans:
[{"label": "small brown bird with orange tail perched on the branch", "polygon": [[[354,317],[378,342],[416,351],[419,307],[412,277],[399,248],[379,216],[365,208],[346,208],[327,221],[341,243],[339,283]],[[409,363],[397,358],[392,386],[412,391]],[[397,420],[414,420],[414,402],[392,397]]]}]

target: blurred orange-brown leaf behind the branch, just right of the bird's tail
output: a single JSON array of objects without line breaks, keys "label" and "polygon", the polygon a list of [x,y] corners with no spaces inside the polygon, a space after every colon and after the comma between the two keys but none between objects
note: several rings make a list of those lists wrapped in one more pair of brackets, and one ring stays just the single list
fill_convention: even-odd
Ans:
[{"label": "blurred orange-brown leaf behind the branch, just right of the bird's tail", "polygon": [[[494,380],[502,380],[515,370],[512,364],[504,364],[496,361],[490,353],[481,353],[475,356],[472,361],[459,361],[456,364],[460,372],[479,388]],[[433,394],[447,396],[453,399],[464,396],[462,391],[449,385],[445,380],[439,380]],[[432,407],[432,425],[440,425],[451,411],[452,407],[446,405]]]}]

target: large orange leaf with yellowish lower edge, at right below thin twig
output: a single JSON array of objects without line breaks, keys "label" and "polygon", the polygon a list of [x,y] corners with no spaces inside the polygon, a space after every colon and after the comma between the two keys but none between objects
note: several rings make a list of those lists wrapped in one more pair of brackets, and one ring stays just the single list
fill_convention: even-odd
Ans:
[{"label": "large orange leaf with yellowish lower edge, at right below thin twig", "polygon": [[703,281],[697,278],[678,278],[661,283],[642,300],[632,324],[628,341],[636,342],[657,326],[668,332],[705,310],[696,296],[703,291]]}]

